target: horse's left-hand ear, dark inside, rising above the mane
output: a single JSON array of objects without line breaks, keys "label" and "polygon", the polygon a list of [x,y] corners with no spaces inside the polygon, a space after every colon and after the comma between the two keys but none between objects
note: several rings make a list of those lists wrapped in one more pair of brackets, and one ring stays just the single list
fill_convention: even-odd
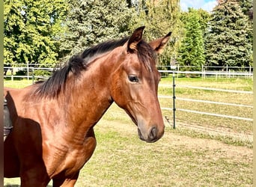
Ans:
[{"label": "horse's left-hand ear, dark inside, rising above the mane", "polygon": [[133,52],[137,49],[137,44],[142,40],[142,34],[145,26],[136,28],[135,31],[133,31],[132,36],[129,37],[129,41],[127,44],[127,51]]}]

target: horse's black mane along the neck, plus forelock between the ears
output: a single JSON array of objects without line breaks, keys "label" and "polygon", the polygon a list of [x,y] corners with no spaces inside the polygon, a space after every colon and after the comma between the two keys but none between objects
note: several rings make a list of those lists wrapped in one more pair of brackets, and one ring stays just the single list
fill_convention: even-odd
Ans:
[{"label": "horse's black mane along the neck, plus forelock between the ears", "polygon": [[[73,73],[74,76],[79,77],[82,71],[87,69],[88,62],[90,62],[92,58],[97,58],[100,54],[110,52],[118,46],[123,46],[127,40],[129,40],[129,37],[124,37],[121,40],[109,40],[97,46],[85,49],[85,51],[79,55],[74,55],[70,58],[65,67],[55,71],[45,82],[37,82],[37,89],[34,91],[34,95],[40,97],[49,96],[52,98],[58,96],[58,94],[65,89],[65,83],[67,82],[69,73]],[[156,54],[144,40],[138,43],[137,53],[139,61],[144,62],[150,70],[151,66],[156,65],[150,63],[152,60],[154,62],[156,61]]]}]

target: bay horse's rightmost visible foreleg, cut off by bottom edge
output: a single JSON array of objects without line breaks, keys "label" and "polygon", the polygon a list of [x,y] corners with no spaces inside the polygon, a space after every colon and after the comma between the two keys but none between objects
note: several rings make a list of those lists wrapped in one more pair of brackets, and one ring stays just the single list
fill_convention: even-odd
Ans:
[{"label": "bay horse's rightmost visible foreleg, cut off by bottom edge", "polygon": [[72,177],[55,178],[52,179],[52,187],[73,187],[75,186],[76,180],[79,177],[79,171]]}]

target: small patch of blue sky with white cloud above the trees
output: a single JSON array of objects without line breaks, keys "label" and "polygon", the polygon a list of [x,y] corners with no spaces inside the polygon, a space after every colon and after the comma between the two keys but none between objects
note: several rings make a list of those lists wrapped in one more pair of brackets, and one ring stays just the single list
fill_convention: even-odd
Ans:
[{"label": "small patch of blue sky with white cloud above the trees", "polygon": [[180,0],[180,7],[183,11],[188,10],[188,7],[193,7],[195,9],[202,8],[210,12],[216,4],[216,0]]}]

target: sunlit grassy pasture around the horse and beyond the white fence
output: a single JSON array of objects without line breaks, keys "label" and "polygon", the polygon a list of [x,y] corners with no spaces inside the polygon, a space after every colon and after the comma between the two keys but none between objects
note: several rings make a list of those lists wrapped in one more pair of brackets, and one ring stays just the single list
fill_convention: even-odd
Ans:
[{"label": "sunlit grassy pasture around the horse and beyond the white fence", "polygon": [[[28,81],[4,81],[4,86],[22,88]],[[171,78],[160,82],[159,95],[171,96]],[[192,85],[252,91],[252,79],[176,80],[176,96],[252,105],[252,94],[178,88]],[[161,85],[170,85],[163,87]],[[171,99],[159,99],[172,107]],[[252,117],[252,108],[177,100],[177,108]],[[172,111],[162,111],[165,135],[153,144],[138,139],[127,114],[112,105],[95,126],[97,147],[80,172],[76,186],[252,186],[252,122],[177,111],[172,129]],[[19,179],[4,179],[4,186],[18,186]],[[51,186],[51,184],[49,185]]]}]

